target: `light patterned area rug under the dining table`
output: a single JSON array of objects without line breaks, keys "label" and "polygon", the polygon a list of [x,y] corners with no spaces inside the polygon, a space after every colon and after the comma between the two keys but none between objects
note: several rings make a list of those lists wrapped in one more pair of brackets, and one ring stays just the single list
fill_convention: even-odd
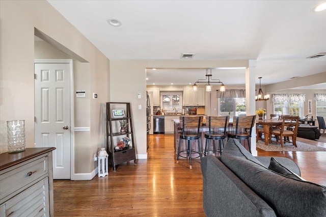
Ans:
[{"label": "light patterned area rug under the dining table", "polygon": [[292,143],[284,143],[283,148],[281,144],[272,142],[271,144],[268,143],[268,145],[265,145],[264,141],[259,140],[256,146],[264,151],[326,151],[326,148],[302,142],[296,142],[297,147],[294,147]]}]

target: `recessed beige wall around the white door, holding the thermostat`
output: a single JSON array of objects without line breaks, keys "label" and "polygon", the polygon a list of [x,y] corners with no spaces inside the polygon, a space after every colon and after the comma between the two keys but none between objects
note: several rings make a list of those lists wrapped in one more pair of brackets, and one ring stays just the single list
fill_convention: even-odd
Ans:
[{"label": "recessed beige wall around the white door, holding the thermostat", "polygon": [[[72,59],[66,53],[60,51],[56,47],[45,41],[35,41],[34,43],[34,58],[35,59]],[[77,158],[90,160],[75,160],[75,173],[88,173],[95,169],[96,164],[90,146],[90,131],[77,131],[76,128],[90,128],[90,103],[92,100],[90,88],[90,64],[80,63],[78,60],[73,60],[73,84],[74,92],[76,90],[86,91],[85,98],[74,97],[74,153]],[[91,155],[93,156],[93,155]],[[93,167],[92,167],[93,166]]]}]

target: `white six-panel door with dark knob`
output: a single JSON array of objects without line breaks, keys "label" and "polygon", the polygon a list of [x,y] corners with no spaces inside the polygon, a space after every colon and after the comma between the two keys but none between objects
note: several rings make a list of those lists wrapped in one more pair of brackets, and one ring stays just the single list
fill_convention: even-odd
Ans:
[{"label": "white six-panel door with dark knob", "polygon": [[36,147],[53,151],[53,178],[70,179],[70,65],[35,64]]}]

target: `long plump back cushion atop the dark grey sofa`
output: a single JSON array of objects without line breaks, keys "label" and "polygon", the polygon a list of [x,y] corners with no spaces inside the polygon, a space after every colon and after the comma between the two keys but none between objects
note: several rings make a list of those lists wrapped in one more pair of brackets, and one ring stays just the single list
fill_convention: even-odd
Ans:
[{"label": "long plump back cushion atop the dark grey sofa", "polygon": [[259,164],[258,160],[250,159],[249,152],[242,148],[235,141],[228,142],[221,161],[264,199],[277,215],[326,216],[325,186],[270,171]]}]

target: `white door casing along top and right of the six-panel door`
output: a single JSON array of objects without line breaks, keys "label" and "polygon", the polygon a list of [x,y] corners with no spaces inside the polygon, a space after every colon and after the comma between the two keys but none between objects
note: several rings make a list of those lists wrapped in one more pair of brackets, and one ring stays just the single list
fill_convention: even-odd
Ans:
[{"label": "white door casing along top and right of the six-panel door", "polygon": [[[35,59],[37,63],[69,63],[70,66],[70,129],[74,129],[74,83],[73,83],[73,61],[72,59]],[[70,179],[75,180],[75,138],[73,130],[70,130]]]}]

